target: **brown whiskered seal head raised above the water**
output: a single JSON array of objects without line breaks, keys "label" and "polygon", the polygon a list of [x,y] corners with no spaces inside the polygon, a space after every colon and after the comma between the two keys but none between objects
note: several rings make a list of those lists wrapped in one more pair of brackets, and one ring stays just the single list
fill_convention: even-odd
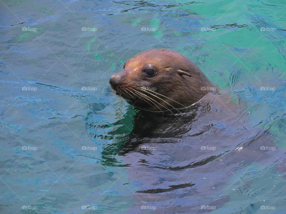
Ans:
[{"label": "brown whiskered seal head raised above the water", "polygon": [[194,62],[168,49],[137,54],[111,76],[109,83],[117,96],[147,111],[186,108],[208,92],[217,92]]}]

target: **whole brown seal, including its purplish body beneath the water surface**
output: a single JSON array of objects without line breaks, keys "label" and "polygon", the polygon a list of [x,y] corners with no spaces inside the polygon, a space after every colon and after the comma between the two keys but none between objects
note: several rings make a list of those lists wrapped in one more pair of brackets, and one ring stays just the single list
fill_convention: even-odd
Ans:
[{"label": "whole brown seal, including its purplish body beneath the water surface", "polygon": [[[158,206],[158,213],[186,213],[185,208],[200,213],[202,203],[232,203],[229,195],[244,200],[248,190],[259,194],[257,189],[264,188],[256,188],[255,175],[240,175],[251,164],[277,162],[260,149],[275,146],[270,133],[249,123],[243,100],[209,90],[213,84],[192,61],[175,51],[147,50],[129,59],[110,84],[136,108],[168,111],[191,106],[184,113],[163,116],[128,109],[116,122],[122,126],[114,126],[116,136],[102,158],[114,157],[113,164],[129,166],[126,185],[137,200],[132,213],[141,213],[143,201]],[[209,195],[218,198],[209,200]]]}]

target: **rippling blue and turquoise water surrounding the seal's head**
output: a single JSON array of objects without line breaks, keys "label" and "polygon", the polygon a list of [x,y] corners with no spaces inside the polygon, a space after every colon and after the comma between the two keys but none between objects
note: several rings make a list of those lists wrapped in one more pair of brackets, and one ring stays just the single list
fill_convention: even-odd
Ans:
[{"label": "rippling blue and turquoise water surrounding the seal's head", "polygon": [[[285,4],[1,1],[1,213],[284,213]],[[149,48],[231,102],[141,118],[108,80]]]}]

